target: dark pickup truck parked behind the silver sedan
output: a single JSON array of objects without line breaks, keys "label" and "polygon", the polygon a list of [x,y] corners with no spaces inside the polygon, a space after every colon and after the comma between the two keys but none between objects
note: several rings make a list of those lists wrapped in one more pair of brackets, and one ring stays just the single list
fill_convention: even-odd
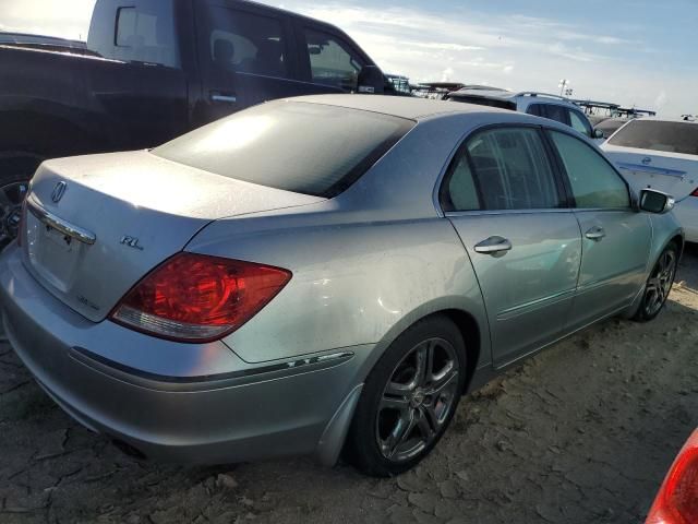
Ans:
[{"label": "dark pickup truck parked behind the silver sedan", "polygon": [[45,158],[137,150],[274,98],[382,93],[337,27],[244,0],[97,0],[85,46],[0,44],[0,246]]}]

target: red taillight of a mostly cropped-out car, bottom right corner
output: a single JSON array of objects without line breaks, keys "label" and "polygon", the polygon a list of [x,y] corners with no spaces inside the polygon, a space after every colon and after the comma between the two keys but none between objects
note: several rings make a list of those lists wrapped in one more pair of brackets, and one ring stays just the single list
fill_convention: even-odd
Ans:
[{"label": "red taillight of a mostly cropped-out car, bottom right corner", "polygon": [[698,431],[672,464],[652,504],[646,524],[698,522]]}]

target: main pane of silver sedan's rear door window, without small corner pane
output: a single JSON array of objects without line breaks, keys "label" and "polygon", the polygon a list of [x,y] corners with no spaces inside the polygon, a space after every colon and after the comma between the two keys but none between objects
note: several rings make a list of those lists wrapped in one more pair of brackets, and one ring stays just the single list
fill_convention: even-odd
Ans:
[{"label": "main pane of silver sedan's rear door window, without small corner pane", "polygon": [[529,128],[493,129],[468,140],[468,155],[486,210],[562,206],[541,135]]}]

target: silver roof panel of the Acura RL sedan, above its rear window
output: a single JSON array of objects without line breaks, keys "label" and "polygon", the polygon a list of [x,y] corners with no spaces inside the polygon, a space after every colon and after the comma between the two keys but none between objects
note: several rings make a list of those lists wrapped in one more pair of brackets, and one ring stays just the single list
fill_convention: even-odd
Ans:
[{"label": "silver roof panel of the Acura RL sedan, above its rear window", "polygon": [[474,104],[456,104],[453,102],[433,100],[410,96],[311,95],[287,98],[287,100],[361,109],[364,111],[381,112],[383,115],[390,115],[410,120],[424,120],[437,115],[446,114],[510,112],[506,109],[498,109],[495,107]]}]

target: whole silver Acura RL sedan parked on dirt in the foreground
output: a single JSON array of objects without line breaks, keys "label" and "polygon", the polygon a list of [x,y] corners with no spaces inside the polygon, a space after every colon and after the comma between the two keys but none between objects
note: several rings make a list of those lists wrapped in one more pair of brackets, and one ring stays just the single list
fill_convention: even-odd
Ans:
[{"label": "whole silver Acura RL sedan parked on dirt in the foreground", "polygon": [[508,365],[655,317],[684,243],[670,209],[552,120],[302,97],[44,163],[0,303],[47,393],[132,454],[344,450],[394,475]]}]

